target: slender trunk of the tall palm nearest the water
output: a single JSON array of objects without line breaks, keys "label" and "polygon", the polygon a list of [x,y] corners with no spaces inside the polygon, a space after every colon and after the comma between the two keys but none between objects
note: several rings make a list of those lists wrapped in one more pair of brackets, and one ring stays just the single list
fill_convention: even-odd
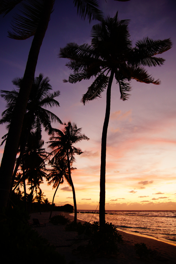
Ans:
[{"label": "slender trunk of the tall palm nearest the water", "polygon": [[110,118],[111,106],[111,85],[114,77],[114,71],[111,70],[107,94],[106,94],[106,114],[104,118],[102,140],[101,140],[101,167],[100,167],[100,201],[99,201],[99,225],[102,227],[105,224],[105,175],[106,175],[106,139],[108,123]]}]

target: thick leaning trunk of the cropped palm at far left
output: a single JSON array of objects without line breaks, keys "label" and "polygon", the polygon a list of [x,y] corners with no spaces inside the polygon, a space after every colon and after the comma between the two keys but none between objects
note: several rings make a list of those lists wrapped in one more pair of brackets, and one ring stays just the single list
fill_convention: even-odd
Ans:
[{"label": "thick leaning trunk of the cropped palm at far left", "polygon": [[19,91],[17,102],[13,110],[12,120],[9,127],[6,145],[2,157],[0,167],[0,206],[6,207],[8,197],[11,190],[11,182],[13,169],[15,166],[16,154],[18,152],[18,143],[20,140],[23,118],[26,111],[28,98],[30,95],[32,82],[35,76],[37,59],[40,47],[45,36],[45,32],[50,20],[51,11],[53,9],[54,0],[45,0],[43,12],[39,21],[39,25],[32,41],[31,49],[28,55],[25,73],[23,76],[22,86]]}]

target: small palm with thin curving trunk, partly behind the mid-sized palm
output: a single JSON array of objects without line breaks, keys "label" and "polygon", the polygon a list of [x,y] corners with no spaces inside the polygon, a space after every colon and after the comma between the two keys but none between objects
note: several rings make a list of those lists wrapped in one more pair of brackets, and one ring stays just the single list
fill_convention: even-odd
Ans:
[{"label": "small palm with thin curving trunk, partly behind the mid-sized palm", "polygon": [[[53,162],[54,164],[52,164]],[[50,164],[52,165],[53,169],[50,170],[50,173],[47,176],[47,181],[48,181],[48,185],[51,185],[53,183],[53,189],[56,188],[56,190],[53,196],[53,202],[52,202],[51,213],[50,213],[49,219],[51,218],[52,211],[53,211],[55,194],[59,188],[59,185],[64,182],[64,178],[67,181],[68,185],[71,186],[70,181],[69,181],[66,158],[65,157],[64,158],[60,157],[60,159],[57,158],[55,161],[53,160],[52,162],[50,162]],[[70,170],[74,170],[74,169],[76,168],[70,168]]]}]

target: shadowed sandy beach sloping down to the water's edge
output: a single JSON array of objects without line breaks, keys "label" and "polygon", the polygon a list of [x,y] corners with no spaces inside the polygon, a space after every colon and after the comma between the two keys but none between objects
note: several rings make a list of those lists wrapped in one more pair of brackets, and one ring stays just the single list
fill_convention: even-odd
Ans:
[{"label": "shadowed sandy beach sloping down to the water's edge", "polygon": [[[65,217],[73,220],[73,216],[69,215],[69,213],[64,212],[53,212],[53,215],[63,214]],[[50,244],[54,244],[56,250],[60,254],[65,255],[65,259],[67,263],[71,260],[74,260],[76,264],[133,264],[133,263],[176,263],[176,244],[166,243],[163,241],[159,241],[154,238],[144,237],[139,234],[131,234],[126,233],[121,230],[118,232],[123,237],[123,244],[119,244],[119,252],[117,256],[110,256],[109,258],[94,258],[90,259],[88,254],[82,255],[77,247],[83,241],[76,243],[75,238],[77,237],[77,232],[66,232],[64,225],[53,225],[49,223],[49,215],[50,212],[45,212],[40,215],[40,213],[32,213],[29,222],[33,223],[33,218],[38,218],[40,223],[46,223],[46,226],[41,225],[40,227],[36,227],[35,229],[39,234],[46,238]],[[82,220],[77,220],[84,223]],[[75,242],[76,241],[76,242]],[[150,258],[148,260],[141,260],[139,256],[136,254],[134,244],[136,243],[145,243],[148,249],[152,250]]]}]

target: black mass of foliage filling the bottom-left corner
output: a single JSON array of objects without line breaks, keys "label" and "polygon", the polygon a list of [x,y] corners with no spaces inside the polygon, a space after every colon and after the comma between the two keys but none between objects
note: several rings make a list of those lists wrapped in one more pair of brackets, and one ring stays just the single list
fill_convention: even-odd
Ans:
[{"label": "black mass of foliage filling the bottom-left corner", "polygon": [[64,264],[64,257],[27,224],[27,219],[27,213],[18,207],[1,213],[1,263],[12,263],[16,256],[25,263]]}]

